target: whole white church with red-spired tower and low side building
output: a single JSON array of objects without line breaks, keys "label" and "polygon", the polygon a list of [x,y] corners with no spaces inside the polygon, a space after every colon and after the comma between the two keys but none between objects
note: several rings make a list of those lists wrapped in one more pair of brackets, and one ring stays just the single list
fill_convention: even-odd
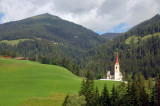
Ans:
[{"label": "whole white church with red-spired tower and low side building", "polygon": [[116,63],[114,65],[114,75],[111,75],[110,71],[107,72],[107,80],[119,80],[122,81],[123,75],[120,72],[120,65],[118,62],[118,52],[116,57]]}]

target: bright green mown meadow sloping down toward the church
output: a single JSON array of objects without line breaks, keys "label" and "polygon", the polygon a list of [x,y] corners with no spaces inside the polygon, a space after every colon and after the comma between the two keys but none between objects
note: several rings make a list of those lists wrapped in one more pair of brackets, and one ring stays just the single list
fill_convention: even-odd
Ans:
[{"label": "bright green mown meadow sloping down toward the church", "polygon": [[[79,91],[81,81],[82,78],[59,66],[0,58],[0,106],[58,106],[67,93]],[[120,84],[95,81],[100,91],[105,83],[108,89]]]}]

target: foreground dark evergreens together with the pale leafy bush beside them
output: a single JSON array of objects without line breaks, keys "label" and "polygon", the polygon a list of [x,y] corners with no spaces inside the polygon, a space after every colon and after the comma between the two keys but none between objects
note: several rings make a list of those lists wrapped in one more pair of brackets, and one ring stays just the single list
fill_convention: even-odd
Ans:
[{"label": "foreground dark evergreens together with the pale leafy bush beside them", "polygon": [[79,94],[67,95],[63,106],[159,106],[160,105],[160,76],[157,75],[155,84],[152,79],[145,80],[141,73],[130,78],[127,84],[113,85],[108,91],[106,84],[99,92],[94,86],[92,77],[87,74],[87,80],[82,81]]}]

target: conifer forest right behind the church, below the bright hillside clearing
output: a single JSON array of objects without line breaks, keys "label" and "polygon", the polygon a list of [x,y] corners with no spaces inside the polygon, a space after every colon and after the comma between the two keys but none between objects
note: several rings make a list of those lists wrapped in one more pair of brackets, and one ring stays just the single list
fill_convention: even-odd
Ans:
[{"label": "conifer forest right behind the church, below the bright hillside clearing", "polygon": [[[129,74],[141,72],[146,79],[160,74],[160,37],[151,36],[145,40],[137,39],[137,43],[126,44],[120,39],[108,42],[88,53],[85,69],[92,70],[95,78],[105,78],[107,71],[114,71],[116,51],[119,53],[120,69],[127,78]],[[83,61],[83,60],[82,60]]]}]

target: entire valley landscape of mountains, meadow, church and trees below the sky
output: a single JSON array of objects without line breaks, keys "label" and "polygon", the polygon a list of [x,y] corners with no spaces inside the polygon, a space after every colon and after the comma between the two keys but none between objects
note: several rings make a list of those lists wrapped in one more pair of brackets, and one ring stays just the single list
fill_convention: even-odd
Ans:
[{"label": "entire valley landscape of mountains, meadow, church and trees below the sky", "polygon": [[102,36],[48,13],[0,24],[0,56],[0,105],[160,104],[159,14]]}]

